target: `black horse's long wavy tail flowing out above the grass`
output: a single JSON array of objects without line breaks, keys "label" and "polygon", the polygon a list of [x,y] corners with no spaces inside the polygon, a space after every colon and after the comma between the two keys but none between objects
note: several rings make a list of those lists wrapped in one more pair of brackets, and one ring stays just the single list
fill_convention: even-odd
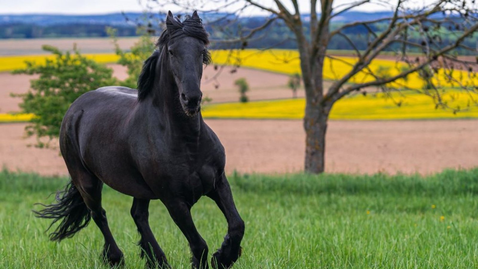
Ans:
[{"label": "black horse's long wavy tail flowing out above the grass", "polygon": [[50,234],[50,240],[61,241],[72,237],[76,232],[88,225],[91,213],[83,201],[78,189],[73,182],[66,185],[65,191],[58,191],[55,200],[57,203],[43,205],[41,211],[34,211],[38,218],[53,219],[47,231],[57,222],[61,221],[58,227]]}]

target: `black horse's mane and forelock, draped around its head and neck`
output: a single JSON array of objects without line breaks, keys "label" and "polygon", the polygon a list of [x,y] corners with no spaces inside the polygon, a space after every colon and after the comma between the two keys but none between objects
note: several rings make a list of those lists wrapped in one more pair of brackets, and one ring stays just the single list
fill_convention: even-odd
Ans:
[{"label": "black horse's mane and forelock, draped around its head and neck", "polygon": [[[167,45],[170,40],[183,34],[197,38],[204,42],[205,45],[209,44],[209,35],[196,11],[194,11],[192,16],[186,15],[183,22],[181,22],[178,17],[173,18],[172,14],[168,14],[166,27],[156,41],[156,50],[148,59],[146,59],[146,61],[144,61],[140,77],[138,78],[139,100],[144,99],[148,95],[148,92],[152,90],[156,71],[155,67],[159,60],[161,51],[163,51],[163,47]],[[206,46],[206,51],[203,55],[203,64],[208,65],[211,62],[211,53]]]}]

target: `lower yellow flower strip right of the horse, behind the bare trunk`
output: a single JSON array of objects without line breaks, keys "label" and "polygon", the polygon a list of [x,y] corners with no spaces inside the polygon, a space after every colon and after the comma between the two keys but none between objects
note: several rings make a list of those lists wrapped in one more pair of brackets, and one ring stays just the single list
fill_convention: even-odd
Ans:
[{"label": "lower yellow flower strip right of the horse, behind the bare trunk", "polygon": [[[450,105],[467,106],[467,96],[454,92],[455,101]],[[435,109],[430,97],[422,94],[409,94],[406,97],[394,96],[402,101],[397,106],[390,98],[383,96],[351,96],[337,101],[330,113],[333,120],[405,120],[405,119],[456,119],[478,118],[478,107],[453,114],[443,109]],[[287,99],[254,101],[248,103],[211,104],[202,110],[205,118],[229,119],[302,119],[305,100]]]}]

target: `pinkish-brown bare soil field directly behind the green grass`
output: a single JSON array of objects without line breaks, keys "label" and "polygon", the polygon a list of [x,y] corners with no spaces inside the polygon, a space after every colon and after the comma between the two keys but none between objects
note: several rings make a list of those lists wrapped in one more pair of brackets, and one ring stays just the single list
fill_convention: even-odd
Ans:
[{"label": "pinkish-brown bare soil field directly behind the green grass", "polygon": [[[283,173],[303,168],[301,121],[206,120],[226,148],[227,171]],[[58,149],[27,147],[25,124],[0,124],[0,165],[66,173]],[[478,121],[332,121],[326,171],[422,173],[478,165]]]}]

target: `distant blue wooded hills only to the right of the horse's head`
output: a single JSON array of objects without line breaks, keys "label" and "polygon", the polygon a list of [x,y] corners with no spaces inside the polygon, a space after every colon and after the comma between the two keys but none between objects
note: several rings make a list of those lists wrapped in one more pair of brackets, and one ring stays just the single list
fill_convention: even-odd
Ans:
[{"label": "distant blue wooded hills only to the right of the horse's head", "polygon": [[[248,18],[237,20],[236,22],[217,21],[215,24],[207,25],[207,30],[211,33],[211,39],[213,40],[223,40],[223,39],[234,39],[238,36],[247,35],[249,30],[261,26],[266,22],[264,17]],[[331,30],[335,30],[342,26],[345,22],[333,22],[331,23]],[[364,25],[357,25],[355,27],[349,27],[344,29],[342,34],[347,35],[347,39],[341,35],[335,35],[331,38],[328,44],[328,49],[331,50],[353,50],[357,48],[358,50],[366,50],[369,46],[369,43],[374,39],[375,34],[380,34],[382,31],[387,29],[389,26],[386,22],[369,24],[369,27]],[[425,25],[426,26],[426,25]],[[308,33],[310,29],[310,24],[304,22],[304,33]],[[456,36],[459,36],[462,33],[463,29],[460,28],[460,19],[456,18],[454,22],[443,23],[437,29],[432,29],[433,25],[429,25],[430,36],[434,36],[434,40],[428,40],[430,44],[435,42],[435,47],[445,47],[456,41]],[[372,32],[370,32],[372,31]],[[433,33],[432,33],[433,31]],[[410,31],[408,34],[407,41],[416,44],[422,44],[424,42],[423,36],[419,35],[417,32]],[[247,42],[238,42],[235,44],[221,43],[217,42],[212,44],[213,48],[226,49],[230,47],[235,48],[287,48],[287,49],[296,49],[297,43],[295,37],[290,29],[282,21],[276,21],[271,24],[269,27],[257,32],[254,35],[255,38],[248,40]],[[306,35],[306,38],[309,38]],[[465,45],[469,48],[478,49],[478,33],[466,38],[462,45]],[[353,45],[351,44],[353,43]],[[433,48],[434,45],[431,45]],[[398,51],[405,50],[407,52],[422,52],[421,47],[416,46],[403,46],[402,43],[394,43],[385,49],[385,51]],[[455,52],[460,55],[475,55],[476,52],[465,50],[463,48],[455,49]]]}]

